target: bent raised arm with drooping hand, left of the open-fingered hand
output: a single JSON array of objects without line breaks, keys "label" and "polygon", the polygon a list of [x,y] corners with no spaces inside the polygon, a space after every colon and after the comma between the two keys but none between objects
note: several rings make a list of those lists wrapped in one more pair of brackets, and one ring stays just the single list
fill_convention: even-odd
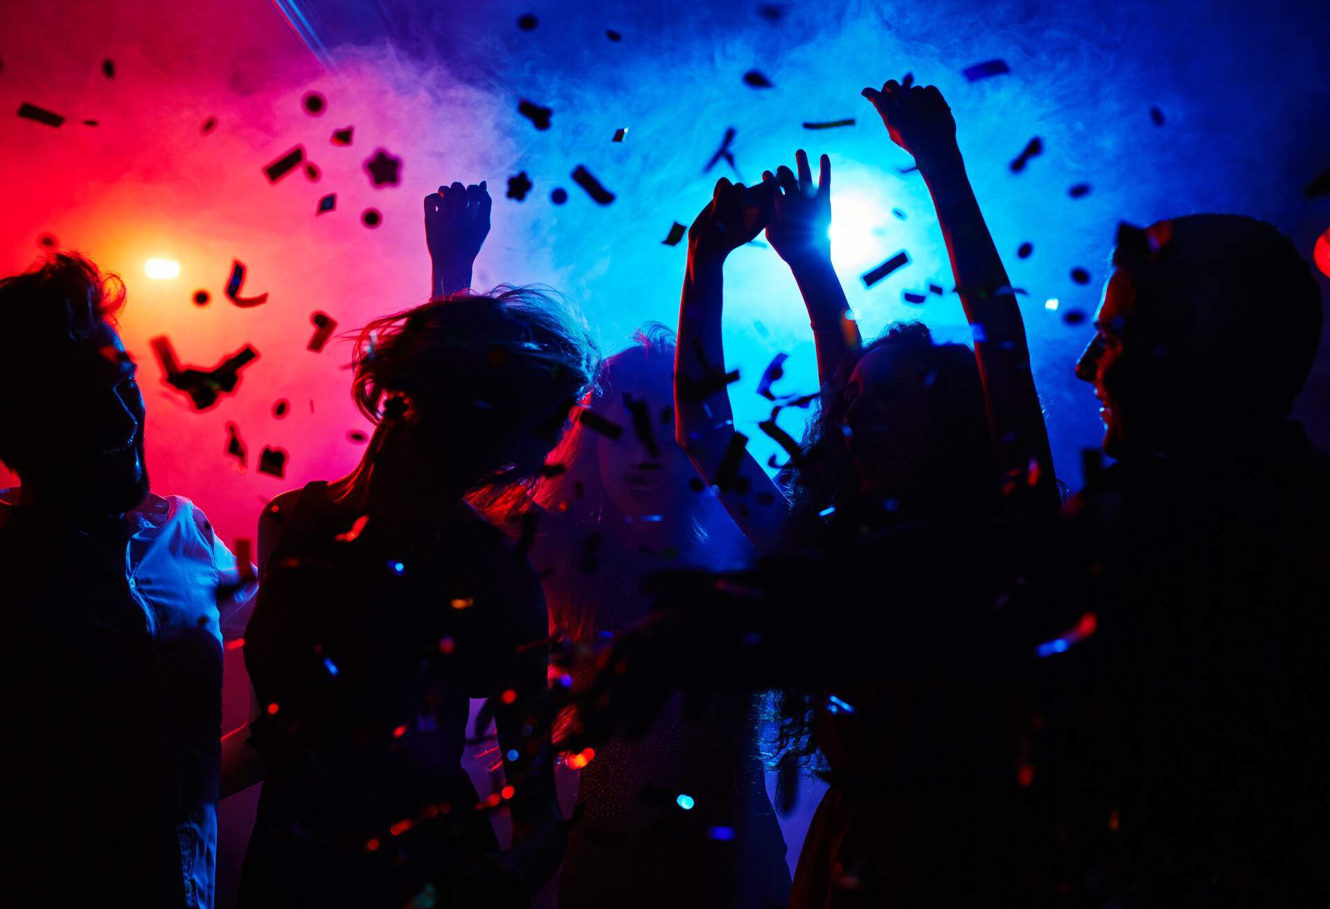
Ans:
[{"label": "bent raised arm with drooping hand, left of the open-fingered hand", "polygon": [[785,536],[789,508],[779,487],[734,430],[721,343],[725,257],[766,225],[774,185],[716,184],[688,232],[688,272],[674,355],[674,438],[758,552]]}]

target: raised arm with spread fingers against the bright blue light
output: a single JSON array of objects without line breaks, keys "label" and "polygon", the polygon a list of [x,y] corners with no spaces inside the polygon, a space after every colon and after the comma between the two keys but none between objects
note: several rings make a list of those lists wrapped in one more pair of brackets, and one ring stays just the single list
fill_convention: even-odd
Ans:
[{"label": "raised arm with spread fingers against the bright blue light", "polygon": [[818,351],[818,382],[825,389],[845,353],[859,346],[859,326],[849,318],[850,303],[831,268],[831,238],[827,236],[831,161],[822,156],[817,185],[803,149],[794,153],[794,164],[798,176],[783,164],[774,174],[762,173],[762,182],[775,193],[766,240],[799,285]]}]

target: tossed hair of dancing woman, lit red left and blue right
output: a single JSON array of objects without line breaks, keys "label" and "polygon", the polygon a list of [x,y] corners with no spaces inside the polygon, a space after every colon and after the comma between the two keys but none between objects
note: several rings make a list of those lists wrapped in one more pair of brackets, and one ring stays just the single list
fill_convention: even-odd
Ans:
[{"label": "tossed hair of dancing woman, lit red left and blue right", "polygon": [[[529,480],[596,374],[595,339],[549,290],[463,290],[376,318],[351,357],[356,407],[411,414],[467,487]],[[372,447],[372,446],[371,446]]]}]

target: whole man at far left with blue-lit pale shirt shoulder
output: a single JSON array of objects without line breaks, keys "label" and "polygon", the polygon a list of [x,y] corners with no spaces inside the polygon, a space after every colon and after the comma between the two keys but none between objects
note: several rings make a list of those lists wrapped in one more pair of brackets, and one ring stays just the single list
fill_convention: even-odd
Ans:
[{"label": "whole man at far left with blue-lit pale shirt shoulder", "polygon": [[218,603],[247,591],[203,514],[149,491],[122,305],[77,256],[0,281],[15,905],[213,904]]}]

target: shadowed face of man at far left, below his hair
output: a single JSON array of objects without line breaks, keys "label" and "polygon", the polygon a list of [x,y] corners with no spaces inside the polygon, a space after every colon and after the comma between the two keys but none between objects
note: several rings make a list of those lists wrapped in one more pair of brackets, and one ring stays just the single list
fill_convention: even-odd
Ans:
[{"label": "shadowed face of man at far left, below his hair", "polygon": [[84,511],[136,508],[148,495],[145,409],[120,335],[100,322],[52,367],[55,375],[24,407],[31,430],[20,476]]}]

